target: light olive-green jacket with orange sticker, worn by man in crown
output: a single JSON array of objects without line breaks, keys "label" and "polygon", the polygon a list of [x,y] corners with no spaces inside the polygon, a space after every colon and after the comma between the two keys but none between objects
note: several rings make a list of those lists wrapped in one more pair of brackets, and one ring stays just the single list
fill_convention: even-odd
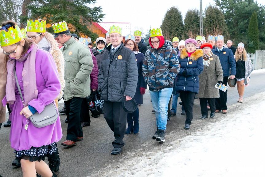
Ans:
[{"label": "light olive-green jacket with orange sticker, worn by man in crown", "polygon": [[94,67],[88,46],[70,38],[61,47],[64,55],[64,101],[90,95],[90,73]]}]

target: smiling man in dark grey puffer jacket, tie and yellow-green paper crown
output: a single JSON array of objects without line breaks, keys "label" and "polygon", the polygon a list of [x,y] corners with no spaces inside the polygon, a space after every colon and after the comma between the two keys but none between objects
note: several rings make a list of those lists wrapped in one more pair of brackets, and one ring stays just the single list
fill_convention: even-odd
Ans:
[{"label": "smiling man in dark grey puffer jacket, tie and yellow-green paper crown", "polygon": [[114,149],[111,154],[119,154],[123,150],[123,137],[126,131],[127,112],[123,110],[122,99],[126,101],[134,97],[138,81],[138,69],[135,54],[122,43],[122,29],[110,27],[110,42],[101,56],[99,68],[98,90],[104,100],[104,118],[114,132]]}]

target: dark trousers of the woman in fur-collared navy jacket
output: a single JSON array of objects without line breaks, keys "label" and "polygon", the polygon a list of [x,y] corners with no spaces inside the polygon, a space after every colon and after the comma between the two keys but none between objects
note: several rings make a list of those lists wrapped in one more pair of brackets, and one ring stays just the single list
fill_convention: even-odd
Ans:
[{"label": "dark trousers of the woman in fur-collared navy jacket", "polygon": [[186,124],[191,124],[191,120],[193,119],[193,105],[194,105],[194,92],[190,91],[179,91],[180,99],[182,101],[182,105],[184,106],[184,110],[186,112]]}]

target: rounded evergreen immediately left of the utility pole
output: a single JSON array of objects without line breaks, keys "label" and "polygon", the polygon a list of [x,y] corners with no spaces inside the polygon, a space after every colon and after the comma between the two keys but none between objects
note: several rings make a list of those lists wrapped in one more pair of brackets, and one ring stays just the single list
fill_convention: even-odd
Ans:
[{"label": "rounded evergreen immediately left of the utility pole", "polygon": [[196,38],[200,34],[200,16],[199,10],[188,10],[184,19],[185,38]]}]

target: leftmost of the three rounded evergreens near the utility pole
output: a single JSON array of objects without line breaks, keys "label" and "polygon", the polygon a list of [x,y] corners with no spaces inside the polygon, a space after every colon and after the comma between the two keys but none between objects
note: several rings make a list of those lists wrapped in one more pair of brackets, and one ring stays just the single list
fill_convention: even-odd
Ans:
[{"label": "leftmost of the three rounded evergreens near the utility pole", "polygon": [[166,11],[161,28],[166,40],[172,41],[174,37],[181,37],[183,33],[183,21],[181,12],[177,7],[170,7],[170,9]]}]

